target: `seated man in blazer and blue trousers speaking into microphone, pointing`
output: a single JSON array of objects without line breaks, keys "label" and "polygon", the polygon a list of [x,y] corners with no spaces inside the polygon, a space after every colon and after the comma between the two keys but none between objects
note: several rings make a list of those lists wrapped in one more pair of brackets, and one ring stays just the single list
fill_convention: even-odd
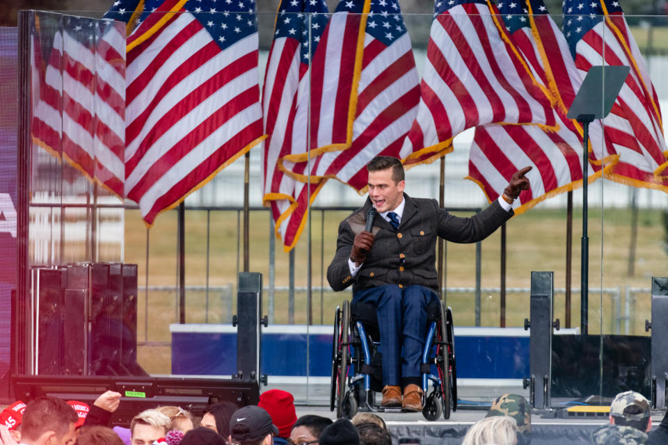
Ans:
[{"label": "seated man in blazer and blue trousers speaking into microphone, pointing", "polygon": [[420,359],[427,305],[440,295],[436,237],[456,243],[482,241],[513,216],[512,203],[530,186],[525,177],[529,170],[515,172],[503,195],[486,209],[460,218],[438,207],[436,200],[404,193],[404,166],[399,159],[376,156],[367,164],[369,197],[340,223],[327,280],[334,291],[353,284],[353,303],[376,307],[382,349],[381,407],[422,411]]}]

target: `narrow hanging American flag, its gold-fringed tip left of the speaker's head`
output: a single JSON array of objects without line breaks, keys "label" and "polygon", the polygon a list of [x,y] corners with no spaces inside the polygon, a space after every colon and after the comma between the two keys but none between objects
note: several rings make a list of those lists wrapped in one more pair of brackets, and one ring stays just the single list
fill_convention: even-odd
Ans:
[{"label": "narrow hanging American flag, its gold-fringed tip left of the speaker's head", "polygon": [[321,0],[282,0],[264,77],[263,201],[271,206],[286,251],[299,240],[308,206],[324,180],[298,181],[278,168],[283,156],[308,151],[309,67],[327,26]]}]

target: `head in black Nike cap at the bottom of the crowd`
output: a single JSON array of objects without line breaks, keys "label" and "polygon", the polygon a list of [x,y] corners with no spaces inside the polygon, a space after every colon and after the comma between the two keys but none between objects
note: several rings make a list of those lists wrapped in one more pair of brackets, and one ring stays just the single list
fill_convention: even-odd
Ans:
[{"label": "head in black Nike cap at the bottom of the crowd", "polygon": [[232,445],[271,445],[278,428],[269,413],[259,406],[248,405],[232,413],[230,436]]}]

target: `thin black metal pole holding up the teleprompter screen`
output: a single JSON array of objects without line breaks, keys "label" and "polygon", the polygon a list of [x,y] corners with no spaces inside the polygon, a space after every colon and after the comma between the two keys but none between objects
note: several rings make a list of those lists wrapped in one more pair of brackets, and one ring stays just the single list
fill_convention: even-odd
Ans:
[{"label": "thin black metal pole holding up the teleprompter screen", "polygon": [[578,122],[582,124],[582,259],[580,264],[580,330],[583,335],[587,335],[589,325],[589,237],[587,236],[587,165],[589,156],[587,147],[589,147],[589,123],[594,121],[594,115],[580,115]]}]

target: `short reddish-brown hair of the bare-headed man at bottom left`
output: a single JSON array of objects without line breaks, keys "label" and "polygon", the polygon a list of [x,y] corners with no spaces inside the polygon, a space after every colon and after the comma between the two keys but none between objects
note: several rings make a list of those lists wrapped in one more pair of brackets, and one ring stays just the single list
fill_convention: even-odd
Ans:
[{"label": "short reddish-brown hair of the bare-headed man at bottom left", "polygon": [[38,397],[28,402],[21,421],[21,435],[33,441],[47,431],[63,437],[70,423],[77,423],[79,415],[74,408],[55,397]]}]

